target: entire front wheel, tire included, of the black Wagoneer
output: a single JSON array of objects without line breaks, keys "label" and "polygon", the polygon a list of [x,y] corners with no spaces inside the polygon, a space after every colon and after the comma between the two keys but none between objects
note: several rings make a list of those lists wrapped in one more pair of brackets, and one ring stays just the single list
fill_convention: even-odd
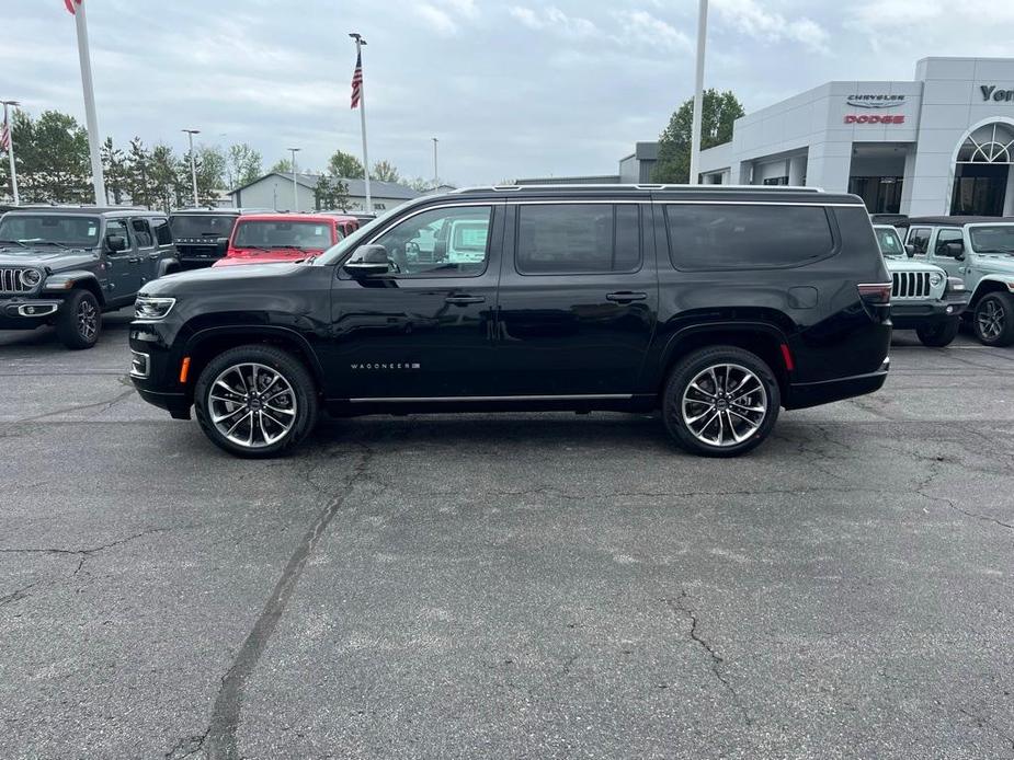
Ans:
[{"label": "entire front wheel, tire included, of the black Wagoneer", "polygon": [[[235,390],[225,391],[219,380]],[[201,372],[194,411],[201,429],[220,449],[248,459],[278,457],[296,448],[317,424],[317,388],[292,354],[273,346],[239,346],[216,356]]]}]

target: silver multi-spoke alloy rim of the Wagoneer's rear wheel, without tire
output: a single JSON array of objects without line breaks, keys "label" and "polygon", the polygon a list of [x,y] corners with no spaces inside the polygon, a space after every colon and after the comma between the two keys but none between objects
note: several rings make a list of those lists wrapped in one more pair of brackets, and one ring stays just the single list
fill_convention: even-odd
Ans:
[{"label": "silver multi-spoke alloy rim of the Wagoneer's rear wheel, without tire", "polygon": [[708,446],[738,446],[761,429],[767,416],[767,391],[742,365],[713,365],[687,383],[681,412],[697,440]]}]

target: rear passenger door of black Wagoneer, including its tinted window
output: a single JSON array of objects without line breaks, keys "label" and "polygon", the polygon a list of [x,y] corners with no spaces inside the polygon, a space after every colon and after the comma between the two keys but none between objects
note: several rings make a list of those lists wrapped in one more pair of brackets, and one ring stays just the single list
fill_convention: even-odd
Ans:
[{"label": "rear passenger door of black Wagoneer, including its tinted window", "polygon": [[494,394],[636,392],[658,313],[654,247],[639,221],[649,215],[637,204],[510,206]]}]

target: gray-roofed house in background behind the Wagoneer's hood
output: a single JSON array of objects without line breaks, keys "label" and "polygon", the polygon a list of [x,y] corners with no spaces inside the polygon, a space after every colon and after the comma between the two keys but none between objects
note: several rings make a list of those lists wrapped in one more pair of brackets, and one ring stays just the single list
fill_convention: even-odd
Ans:
[{"label": "gray-roofed house in background behind the Wagoneer's hood", "polygon": [[[295,193],[293,191],[293,175],[282,172],[270,172],[254,180],[248,185],[237,187],[229,195],[236,208],[273,208],[277,211],[316,211],[317,198],[314,189],[320,174],[296,173]],[[366,211],[366,181],[342,180],[349,185],[349,206],[345,211],[350,214],[364,214]],[[375,214],[389,211],[406,200],[418,198],[421,194],[411,187],[395,182],[369,181],[369,194],[373,196]],[[333,210],[333,209],[332,209]]]}]

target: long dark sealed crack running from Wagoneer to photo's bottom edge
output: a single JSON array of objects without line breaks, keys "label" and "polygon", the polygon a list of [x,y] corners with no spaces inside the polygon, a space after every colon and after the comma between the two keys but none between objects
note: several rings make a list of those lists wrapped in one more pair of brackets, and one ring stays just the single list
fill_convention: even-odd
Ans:
[{"label": "long dark sealed crack running from Wagoneer to photo's bottom edge", "polygon": [[[261,655],[267,647],[282,613],[285,611],[296,585],[299,583],[307,560],[314,553],[331,520],[344,505],[345,498],[356,482],[367,476],[367,470],[373,457],[373,449],[365,448],[360,461],[350,474],[339,483],[338,494],[332,496],[331,502],[320,511],[310,529],[296,546],[261,614],[236,655],[232,666],[223,676],[221,688],[212,709],[208,729],[201,738],[200,744],[190,753],[204,750],[209,760],[239,760],[236,732],[239,727],[240,707],[247,680],[255,670]],[[306,484],[316,494],[326,495],[323,487],[312,479],[312,470],[314,468],[311,467],[304,473]]]}]

